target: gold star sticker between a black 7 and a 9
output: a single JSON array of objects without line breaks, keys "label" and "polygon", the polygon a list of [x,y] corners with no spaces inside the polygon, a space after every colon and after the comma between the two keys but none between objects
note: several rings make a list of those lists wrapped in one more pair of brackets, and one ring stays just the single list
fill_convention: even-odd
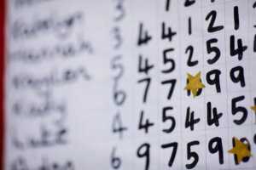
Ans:
[{"label": "gold star sticker between a black 7 and a 9", "polygon": [[187,73],[187,74],[189,77],[189,83],[187,84],[187,86],[184,89],[192,90],[193,96],[195,98],[197,89],[206,88],[206,86],[203,83],[201,83],[201,81],[200,81],[201,71],[199,71],[195,77],[192,77],[191,75],[189,75],[189,73]]}]

